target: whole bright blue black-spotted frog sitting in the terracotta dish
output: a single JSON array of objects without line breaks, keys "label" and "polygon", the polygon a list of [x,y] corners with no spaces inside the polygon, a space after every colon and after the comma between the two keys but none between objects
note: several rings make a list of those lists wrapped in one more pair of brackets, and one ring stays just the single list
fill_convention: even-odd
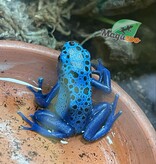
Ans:
[{"label": "whole bright blue black-spotted frog sitting in the terracotta dish", "polygon": [[[94,70],[91,70],[91,66]],[[92,103],[92,86],[104,93],[111,92],[110,72],[98,60],[91,64],[90,53],[76,42],[64,44],[58,57],[58,80],[48,94],[35,91],[39,106],[47,108],[52,99],[57,96],[54,111],[39,109],[28,120],[21,112],[18,114],[30,127],[22,126],[24,130],[35,131],[48,138],[64,139],[76,134],[82,134],[87,141],[95,141],[106,135],[122,111],[115,114],[118,95],[112,103]],[[99,76],[96,80],[92,74]],[[38,79],[42,88],[43,78]]]}]

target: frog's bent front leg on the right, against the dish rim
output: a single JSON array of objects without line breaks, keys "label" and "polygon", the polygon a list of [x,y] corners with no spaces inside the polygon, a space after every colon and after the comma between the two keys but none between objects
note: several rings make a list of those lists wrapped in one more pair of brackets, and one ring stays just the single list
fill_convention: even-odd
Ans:
[{"label": "frog's bent front leg on the right, against the dish rim", "polygon": [[95,69],[92,71],[92,74],[96,74],[99,76],[99,80],[92,79],[92,86],[103,90],[105,93],[111,92],[111,78],[110,72],[107,68],[105,68],[102,64],[102,61],[98,59],[98,64],[95,65],[92,63],[92,67]]}]

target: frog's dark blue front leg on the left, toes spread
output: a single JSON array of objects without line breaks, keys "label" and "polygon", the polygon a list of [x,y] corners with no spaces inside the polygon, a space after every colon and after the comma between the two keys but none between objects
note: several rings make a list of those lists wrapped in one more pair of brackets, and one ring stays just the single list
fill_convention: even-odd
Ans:
[{"label": "frog's dark blue front leg on the left, toes spread", "polygon": [[[43,78],[38,78],[38,87],[42,88],[42,84],[43,84]],[[51,91],[48,94],[43,94],[42,91],[35,91],[32,87],[28,86],[28,89],[31,90],[35,96],[36,99],[36,103],[43,107],[46,108],[51,100],[56,96],[56,94],[58,93],[59,90],[59,84],[56,83],[55,86],[51,89]]]}]

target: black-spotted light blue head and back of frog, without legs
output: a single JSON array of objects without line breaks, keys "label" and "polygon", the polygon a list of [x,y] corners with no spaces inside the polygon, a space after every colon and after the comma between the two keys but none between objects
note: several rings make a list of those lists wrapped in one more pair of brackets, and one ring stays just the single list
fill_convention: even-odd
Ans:
[{"label": "black-spotted light blue head and back of frog, without legs", "polygon": [[59,60],[56,111],[80,133],[92,108],[90,54],[79,44],[67,42]]}]

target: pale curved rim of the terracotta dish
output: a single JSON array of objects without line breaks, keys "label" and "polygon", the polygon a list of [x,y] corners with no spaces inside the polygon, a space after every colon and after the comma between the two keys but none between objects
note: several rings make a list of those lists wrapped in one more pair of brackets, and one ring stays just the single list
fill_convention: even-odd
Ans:
[{"label": "pale curved rim of the terracotta dish", "polygon": [[[25,42],[21,42],[21,41],[10,41],[10,40],[1,40],[0,41],[0,48],[3,49],[3,47],[6,49],[21,49],[21,50],[26,50],[26,51],[32,51],[32,52],[44,52],[44,56],[46,57],[51,57],[51,58],[57,58],[59,55],[59,51],[44,47],[44,46],[40,46],[40,45],[35,45],[35,44],[30,44],[30,43],[25,43]],[[53,56],[51,55],[53,54]],[[114,89],[115,83],[112,82],[112,88]],[[116,92],[116,90],[114,90],[114,92]],[[127,96],[127,93],[124,91],[122,93],[122,97],[124,98],[124,95]],[[132,109],[139,109],[138,105],[136,104],[136,102],[128,95],[128,97],[130,98],[130,102],[133,104],[132,105]],[[137,106],[137,108],[136,108]],[[151,123],[149,122],[149,120],[147,119],[147,117],[145,116],[145,114],[143,113],[143,111],[137,110],[136,112],[131,111],[131,113],[133,114],[134,118],[137,119],[137,121],[139,122],[140,125],[142,125],[142,130],[144,132],[144,134],[146,134],[146,137],[148,138],[148,142],[152,148],[152,151],[154,153],[154,158],[156,161],[156,133],[155,130],[153,128],[153,126],[151,125]],[[148,125],[148,126],[147,126]]]}]

